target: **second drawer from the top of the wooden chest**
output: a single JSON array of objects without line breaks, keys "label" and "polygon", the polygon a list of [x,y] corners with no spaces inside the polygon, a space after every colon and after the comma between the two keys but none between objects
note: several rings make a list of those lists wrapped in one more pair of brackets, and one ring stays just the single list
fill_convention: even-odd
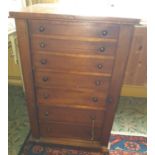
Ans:
[{"label": "second drawer from the top of the wooden chest", "polygon": [[114,56],[116,43],[33,37],[32,48],[34,52],[47,50],[51,53]]}]

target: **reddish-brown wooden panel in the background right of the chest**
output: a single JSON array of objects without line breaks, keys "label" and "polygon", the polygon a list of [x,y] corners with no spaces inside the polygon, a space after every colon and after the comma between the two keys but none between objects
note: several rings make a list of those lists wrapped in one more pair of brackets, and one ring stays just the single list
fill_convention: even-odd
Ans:
[{"label": "reddish-brown wooden panel in the background right of the chest", "polygon": [[147,27],[135,26],[124,84],[145,86],[147,83]]}]

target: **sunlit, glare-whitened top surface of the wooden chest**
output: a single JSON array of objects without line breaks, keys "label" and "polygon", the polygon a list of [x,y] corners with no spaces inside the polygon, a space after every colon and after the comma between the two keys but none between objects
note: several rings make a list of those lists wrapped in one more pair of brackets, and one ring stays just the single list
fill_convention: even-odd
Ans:
[{"label": "sunlit, glare-whitened top surface of the wooden chest", "polygon": [[[124,9],[123,9],[124,10]],[[122,11],[123,11],[122,10]],[[127,12],[127,13],[126,13]],[[31,18],[47,20],[86,20],[86,21],[106,21],[118,24],[138,24],[140,18],[135,18],[128,11],[123,13],[118,8],[106,7],[104,5],[63,5],[55,4],[35,4],[19,10],[10,11],[13,18]],[[131,13],[131,11],[130,11]]]}]

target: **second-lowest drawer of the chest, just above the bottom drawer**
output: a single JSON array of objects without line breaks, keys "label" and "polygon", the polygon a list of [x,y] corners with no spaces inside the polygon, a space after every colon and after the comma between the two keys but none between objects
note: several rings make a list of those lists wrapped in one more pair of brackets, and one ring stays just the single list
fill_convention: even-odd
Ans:
[{"label": "second-lowest drawer of the chest, just above the bottom drawer", "polygon": [[70,122],[89,126],[94,120],[95,124],[99,126],[103,123],[103,110],[39,105],[39,119],[41,122]]}]

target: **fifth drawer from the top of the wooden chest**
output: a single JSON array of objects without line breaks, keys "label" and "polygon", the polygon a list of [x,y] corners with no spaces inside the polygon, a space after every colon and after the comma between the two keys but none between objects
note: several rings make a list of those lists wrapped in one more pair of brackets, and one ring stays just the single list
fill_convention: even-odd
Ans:
[{"label": "fifth drawer from the top of the wooden chest", "polygon": [[85,105],[89,107],[104,107],[107,92],[83,92],[62,90],[57,88],[37,88],[37,101],[39,104],[52,105]]}]

